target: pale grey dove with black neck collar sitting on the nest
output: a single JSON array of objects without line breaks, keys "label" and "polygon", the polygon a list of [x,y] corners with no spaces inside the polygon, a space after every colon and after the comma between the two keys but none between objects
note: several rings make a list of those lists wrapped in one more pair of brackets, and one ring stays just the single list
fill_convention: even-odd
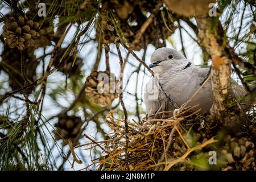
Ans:
[{"label": "pale grey dove with black neck collar sitting on the nest", "polygon": [[[179,107],[187,102],[199,89],[209,72],[209,68],[196,67],[181,53],[171,48],[156,49],[151,55],[149,67],[152,68],[155,77],[150,78],[144,90],[147,114],[155,114],[159,108],[160,111],[174,110],[174,106]],[[245,89],[233,79],[232,90],[237,100],[246,94]],[[206,114],[212,104],[212,84],[209,80],[188,103],[188,106],[199,105],[192,111],[201,108],[199,113]]]}]

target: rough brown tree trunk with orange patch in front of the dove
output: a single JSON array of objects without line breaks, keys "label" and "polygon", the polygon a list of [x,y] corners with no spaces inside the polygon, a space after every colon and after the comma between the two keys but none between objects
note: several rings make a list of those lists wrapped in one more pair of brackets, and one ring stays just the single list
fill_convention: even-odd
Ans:
[{"label": "rough brown tree trunk with orange patch in front of the dove", "polygon": [[228,107],[235,101],[231,86],[232,60],[225,52],[226,40],[221,23],[216,29],[210,30],[212,18],[209,16],[196,17],[199,27],[199,40],[212,57],[212,90],[214,102],[210,109],[210,120],[217,120],[224,126],[232,127],[239,121],[240,109],[237,106]]}]

